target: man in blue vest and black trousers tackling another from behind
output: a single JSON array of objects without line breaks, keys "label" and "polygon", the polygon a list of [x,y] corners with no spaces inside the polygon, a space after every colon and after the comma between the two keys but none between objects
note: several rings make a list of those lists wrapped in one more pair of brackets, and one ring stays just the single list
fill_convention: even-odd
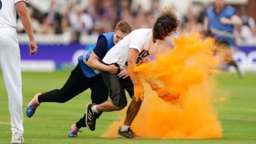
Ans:
[{"label": "man in blue vest and black trousers tackling another from behind", "polygon": [[[108,99],[109,91],[103,82],[101,74],[97,70],[91,69],[87,63],[91,53],[94,53],[94,59],[99,62],[105,57],[106,53],[126,35],[132,31],[129,23],[119,22],[114,33],[101,34],[98,37],[97,44],[92,50],[78,58],[77,66],[71,71],[67,82],[61,89],[51,90],[45,93],[37,93],[27,106],[26,114],[31,117],[35,114],[35,110],[42,102],[59,102],[64,103],[76,97],[87,89],[91,89],[91,100],[93,103],[102,103]],[[96,56],[95,56],[96,55]],[[119,67],[116,65],[100,65],[99,69],[108,71],[111,74],[118,74],[119,77],[129,76],[127,71],[119,72]],[[94,117],[93,122],[101,115]],[[77,137],[77,133],[81,127],[86,127],[85,115],[79,121],[71,126],[68,137]],[[95,130],[95,127],[90,127],[90,130]]]}]

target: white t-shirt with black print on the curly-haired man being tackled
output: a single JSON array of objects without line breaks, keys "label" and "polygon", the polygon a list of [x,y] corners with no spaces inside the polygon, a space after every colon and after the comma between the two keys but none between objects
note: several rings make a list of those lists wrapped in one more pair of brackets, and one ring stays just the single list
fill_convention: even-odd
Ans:
[{"label": "white t-shirt with black print on the curly-haired man being tackled", "polygon": [[137,29],[132,31],[122,41],[112,47],[102,61],[108,65],[117,63],[121,69],[127,69],[129,49],[137,49],[139,51],[139,57],[136,61],[137,65],[142,61],[146,61],[148,55],[156,51],[152,29]]}]

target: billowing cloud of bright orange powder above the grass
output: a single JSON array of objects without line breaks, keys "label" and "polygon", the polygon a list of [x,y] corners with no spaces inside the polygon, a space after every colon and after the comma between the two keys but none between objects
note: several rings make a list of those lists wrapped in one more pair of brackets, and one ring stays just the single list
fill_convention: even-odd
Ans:
[{"label": "billowing cloud of bright orange powder above the grass", "polygon": [[[141,138],[220,138],[221,124],[213,109],[214,83],[209,80],[219,61],[213,39],[199,34],[174,39],[173,50],[158,46],[155,60],[135,67],[141,78],[154,77],[177,100],[164,101],[145,84],[145,98],[131,129]],[[160,51],[161,50],[161,51]],[[125,110],[126,111],[126,110]],[[123,113],[125,117],[125,113]],[[113,122],[102,137],[115,138],[122,121]]]}]

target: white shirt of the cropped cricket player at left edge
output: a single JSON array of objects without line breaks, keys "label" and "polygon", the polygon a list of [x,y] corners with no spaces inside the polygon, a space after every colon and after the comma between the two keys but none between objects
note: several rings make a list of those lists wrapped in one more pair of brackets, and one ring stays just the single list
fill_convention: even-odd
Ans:
[{"label": "white shirt of the cropped cricket player at left edge", "polygon": [[0,27],[17,26],[15,3],[20,1],[25,2],[25,0],[0,0]]}]

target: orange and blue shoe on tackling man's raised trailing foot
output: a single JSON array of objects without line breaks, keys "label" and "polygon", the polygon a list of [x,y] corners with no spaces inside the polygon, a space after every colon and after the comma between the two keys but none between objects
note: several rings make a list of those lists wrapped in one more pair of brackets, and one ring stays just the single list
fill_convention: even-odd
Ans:
[{"label": "orange and blue shoe on tackling man's raised trailing foot", "polygon": [[26,114],[28,117],[31,117],[35,114],[36,108],[40,106],[40,103],[37,101],[37,97],[41,95],[41,93],[37,93],[35,97],[28,103],[26,108]]}]

